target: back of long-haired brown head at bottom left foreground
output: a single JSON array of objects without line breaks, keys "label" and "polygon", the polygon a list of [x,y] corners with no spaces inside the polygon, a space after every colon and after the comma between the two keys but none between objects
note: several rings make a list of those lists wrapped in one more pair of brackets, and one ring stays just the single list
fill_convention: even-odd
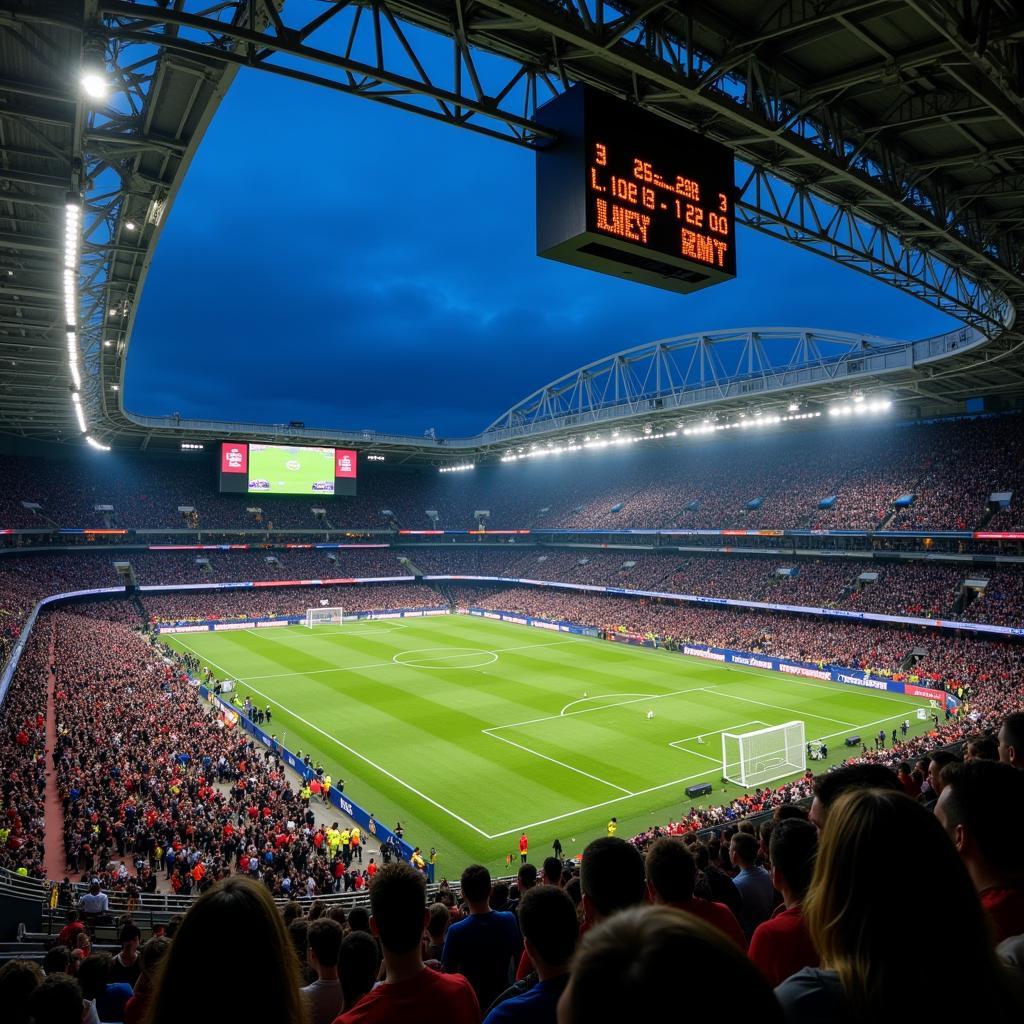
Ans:
[{"label": "back of long-haired brown head at bottom left foreground", "polygon": [[[210,950],[246,949],[254,985],[197,985]],[[222,1024],[272,1020],[303,1024],[299,963],[285,922],[265,886],[232,874],[205,892],[174,935],[158,972],[148,1024]]]}]

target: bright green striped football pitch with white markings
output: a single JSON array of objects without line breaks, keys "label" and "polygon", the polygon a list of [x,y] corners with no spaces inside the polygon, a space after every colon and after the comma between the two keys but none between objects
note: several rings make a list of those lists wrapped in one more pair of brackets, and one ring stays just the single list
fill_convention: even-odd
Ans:
[{"label": "bright green striped football pitch with white markings", "polygon": [[269,703],[269,731],[452,877],[504,868],[522,831],[539,861],[612,815],[627,837],[678,818],[694,782],[728,802],[723,731],[799,719],[836,762],[851,733],[931,726],[896,694],[465,615],[164,639]]}]

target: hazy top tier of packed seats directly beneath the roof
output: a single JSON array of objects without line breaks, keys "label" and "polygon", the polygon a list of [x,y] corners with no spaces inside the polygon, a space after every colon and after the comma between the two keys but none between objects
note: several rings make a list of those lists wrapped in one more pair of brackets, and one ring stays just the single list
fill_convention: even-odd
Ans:
[{"label": "hazy top tier of packed seats directly beneath the roof", "polygon": [[[203,457],[4,457],[0,528],[323,529],[313,507],[326,509],[334,528],[464,529],[477,525],[481,510],[489,512],[488,528],[508,529],[1024,525],[1024,423],[1017,416],[844,420],[788,434],[755,429],[546,459],[529,451],[472,473],[364,465],[358,496],[333,499],[218,494],[215,467]],[[993,509],[996,493],[1013,495],[1009,507]],[[897,504],[906,496],[908,504]]]}]

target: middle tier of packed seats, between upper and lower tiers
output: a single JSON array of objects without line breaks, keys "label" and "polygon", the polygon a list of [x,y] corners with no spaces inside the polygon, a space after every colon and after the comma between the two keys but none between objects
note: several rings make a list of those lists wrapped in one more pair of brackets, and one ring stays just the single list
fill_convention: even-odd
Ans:
[{"label": "middle tier of packed seats, between upper and lower tiers", "polygon": [[[151,552],[70,551],[0,557],[0,665],[32,608],[50,594],[123,584],[114,562],[128,562],[141,586],[260,582],[279,584],[239,598],[196,591],[144,597],[151,616],[168,609],[185,617],[304,610],[286,580],[327,580],[412,573],[546,580],[630,590],[852,611],[1024,626],[1024,569],[1010,563],[934,564],[881,559],[698,555],[675,550],[615,551],[539,545],[445,545],[325,551]],[[399,562],[399,558],[407,559]],[[412,563],[412,564],[410,564]],[[410,592],[402,600],[422,600]],[[323,588],[318,600],[352,610],[374,605],[364,587]],[[388,602],[399,600],[396,594]],[[560,601],[574,600],[565,594]],[[315,601],[313,603],[316,603]],[[220,610],[218,610],[220,609]],[[127,618],[132,605],[122,605]]]}]

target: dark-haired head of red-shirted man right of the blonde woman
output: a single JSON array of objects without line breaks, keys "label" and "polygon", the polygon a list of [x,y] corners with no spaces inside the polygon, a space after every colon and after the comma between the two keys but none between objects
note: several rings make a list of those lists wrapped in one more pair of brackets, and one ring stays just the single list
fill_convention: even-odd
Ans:
[{"label": "dark-haired head of red-shirted man right of the blonde woman", "polygon": [[955,841],[958,827],[986,864],[1024,871],[1024,772],[998,761],[964,761],[942,769],[935,813]]}]

